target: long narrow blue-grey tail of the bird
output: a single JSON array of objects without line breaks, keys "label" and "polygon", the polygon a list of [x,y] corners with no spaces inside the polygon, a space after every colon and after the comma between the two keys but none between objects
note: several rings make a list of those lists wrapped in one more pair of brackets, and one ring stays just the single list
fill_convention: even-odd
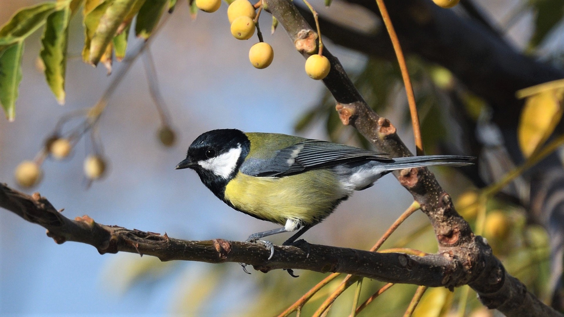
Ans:
[{"label": "long narrow blue-grey tail of the bird", "polygon": [[465,166],[474,164],[475,157],[456,155],[426,155],[394,158],[393,163],[384,165],[386,170],[399,170],[409,168],[420,168],[422,166],[450,165]]}]

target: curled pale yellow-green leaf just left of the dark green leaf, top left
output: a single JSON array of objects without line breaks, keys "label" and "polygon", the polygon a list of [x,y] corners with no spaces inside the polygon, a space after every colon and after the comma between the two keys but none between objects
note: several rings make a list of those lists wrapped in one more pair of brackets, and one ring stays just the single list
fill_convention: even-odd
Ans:
[{"label": "curled pale yellow-green leaf just left of the dark green leaf, top left", "polygon": [[89,62],[91,64],[98,64],[135,1],[114,0],[100,17],[100,22],[90,42]]}]

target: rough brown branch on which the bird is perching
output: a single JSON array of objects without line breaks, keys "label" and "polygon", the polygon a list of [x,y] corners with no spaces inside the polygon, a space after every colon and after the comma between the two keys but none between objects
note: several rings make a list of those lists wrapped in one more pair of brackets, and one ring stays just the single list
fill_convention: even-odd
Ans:
[{"label": "rough brown branch on which the bird is perching", "polygon": [[[310,244],[307,250],[296,246],[276,246],[274,257],[268,261],[270,251],[260,244],[223,239],[206,241],[173,239],[166,234],[106,226],[94,222],[86,215],[72,220],[58,212],[39,193],[29,196],[12,190],[5,184],[0,184],[0,207],[46,228],[47,236],[52,237],[58,244],[65,241],[90,244],[100,254],[130,252],[155,256],[161,261],[245,262],[262,272],[280,268],[297,268],[317,272],[341,272],[389,283],[444,286],[450,289],[460,286],[459,282],[466,279],[464,263],[446,253],[418,257],[404,253],[378,253]],[[484,240],[479,238],[479,241]],[[503,266],[500,268],[503,270]],[[543,305],[527,292],[517,279],[506,275],[505,271],[497,272],[497,278],[503,279],[504,287],[497,290],[497,293],[502,294],[488,297],[491,301],[496,301],[492,302],[492,305],[507,306],[507,303],[504,303],[506,296],[503,293],[509,292],[515,300],[527,307],[525,312],[528,316],[539,314],[561,316],[550,307]],[[491,282],[493,282],[491,284],[498,283],[497,280]]]}]

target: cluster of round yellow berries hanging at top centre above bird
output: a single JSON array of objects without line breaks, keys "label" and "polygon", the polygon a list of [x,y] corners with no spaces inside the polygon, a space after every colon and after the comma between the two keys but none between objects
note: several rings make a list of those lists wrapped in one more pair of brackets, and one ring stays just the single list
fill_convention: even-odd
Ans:
[{"label": "cluster of round yellow berries hanging at top centre above bird", "polygon": [[[215,12],[221,6],[221,0],[196,0],[196,6],[205,12]],[[255,29],[255,7],[249,0],[235,0],[227,8],[227,18],[231,23],[231,34],[236,39],[249,39],[253,37]],[[262,41],[262,40],[261,40]],[[258,69],[267,68],[274,59],[272,46],[265,42],[253,45],[249,50],[250,63]],[[322,55],[311,55],[306,60],[306,73],[315,80],[327,77],[331,63]]]}]

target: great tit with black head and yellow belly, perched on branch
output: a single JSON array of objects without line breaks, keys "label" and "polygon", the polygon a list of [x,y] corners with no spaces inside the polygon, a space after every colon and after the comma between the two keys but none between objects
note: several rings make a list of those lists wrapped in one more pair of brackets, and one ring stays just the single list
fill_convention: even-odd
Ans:
[{"label": "great tit with black head and yellow belly, perched on branch", "polygon": [[462,166],[473,160],[448,155],[389,158],[321,140],[221,129],[196,138],[176,169],[195,170],[202,183],[233,209],[283,226],[247,240],[270,248],[270,259],[274,246],[260,239],[298,230],[284,245],[294,243],[352,192],[371,187],[393,170]]}]

